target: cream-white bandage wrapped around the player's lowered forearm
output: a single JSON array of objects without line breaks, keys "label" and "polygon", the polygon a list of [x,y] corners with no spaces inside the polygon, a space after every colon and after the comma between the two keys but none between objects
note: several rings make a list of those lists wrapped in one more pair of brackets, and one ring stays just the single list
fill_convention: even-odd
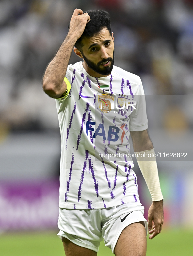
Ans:
[{"label": "cream-white bandage wrapped around the player's lowered forearm", "polygon": [[135,152],[135,154],[141,173],[143,174],[145,182],[150,191],[152,201],[162,200],[163,196],[159,183],[157,162],[156,158],[153,157],[153,155],[155,154],[154,148],[151,150]]}]

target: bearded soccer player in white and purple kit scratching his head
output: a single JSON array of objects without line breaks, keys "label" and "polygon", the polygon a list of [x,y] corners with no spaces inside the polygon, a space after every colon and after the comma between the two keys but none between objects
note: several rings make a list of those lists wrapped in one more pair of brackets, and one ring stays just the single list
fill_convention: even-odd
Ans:
[{"label": "bearded soccer player in white and purple kit scratching his head", "polygon": [[[72,50],[83,62],[68,65]],[[116,256],[146,255],[147,230],[152,239],[163,224],[141,80],[113,63],[108,12],[75,9],[43,77],[43,90],[56,99],[61,131],[58,235],[66,256],[97,255],[103,238]],[[119,111],[112,111],[114,102]],[[148,223],[128,155],[129,134],[153,200]],[[151,161],[141,161],[142,154]]]}]

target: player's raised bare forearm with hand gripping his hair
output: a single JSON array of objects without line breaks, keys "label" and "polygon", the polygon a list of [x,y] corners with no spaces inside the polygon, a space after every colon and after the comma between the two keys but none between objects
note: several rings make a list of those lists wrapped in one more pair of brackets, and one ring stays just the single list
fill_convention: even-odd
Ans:
[{"label": "player's raised bare forearm with hand gripping his hair", "polygon": [[[80,14],[80,15],[79,15]],[[52,98],[60,98],[66,91],[67,86],[64,81],[68,62],[74,44],[81,37],[90,16],[80,9],[75,9],[70,21],[69,32],[60,46],[55,57],[50,61],[46,68],[42,86],[46,94]]]}]

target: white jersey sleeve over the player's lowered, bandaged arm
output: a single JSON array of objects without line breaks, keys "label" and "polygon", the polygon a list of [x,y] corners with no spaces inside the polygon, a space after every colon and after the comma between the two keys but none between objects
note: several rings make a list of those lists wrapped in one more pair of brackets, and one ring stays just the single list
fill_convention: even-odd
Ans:
[{"label": "white jersey sleeve over the player's lowered, bandaged arm", "polygon": [[136,110],[134,109],[129,116],[129,130],[144,131],[148,128],[148,119],[142,82],[140,83],[137,95],[135,95],[134,100],[137,102],[135,105]]}]

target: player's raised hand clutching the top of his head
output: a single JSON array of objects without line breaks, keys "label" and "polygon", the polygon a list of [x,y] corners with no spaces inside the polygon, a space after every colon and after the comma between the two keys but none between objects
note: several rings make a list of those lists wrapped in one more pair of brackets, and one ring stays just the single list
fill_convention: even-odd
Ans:
[{"label": "player's raised hand clutching the top of his head", "polygon": [[[79,15],[80,14],[80,15]],[[70,28],[68,34],[80,38],[86,24],[90,21],[90,16],[87,12],[83,13],[81,9],[75,9],[70,20]]]}]

